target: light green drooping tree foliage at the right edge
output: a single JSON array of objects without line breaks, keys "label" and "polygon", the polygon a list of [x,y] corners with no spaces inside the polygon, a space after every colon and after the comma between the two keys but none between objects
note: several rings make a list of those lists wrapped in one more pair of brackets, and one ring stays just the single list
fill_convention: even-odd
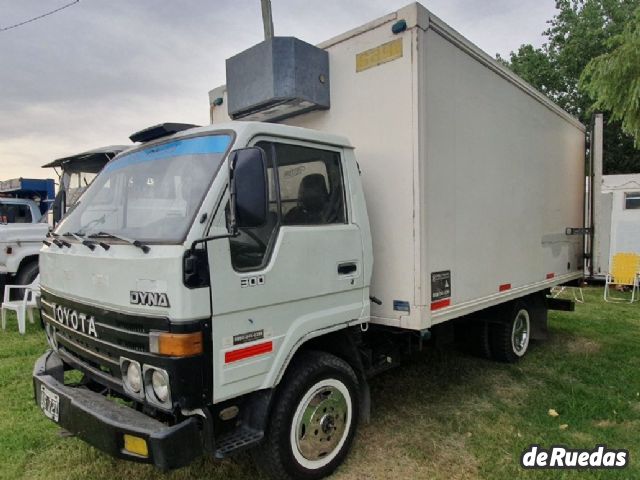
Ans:
[{"label": "light green drooping tree foliage at the right edge", "polygon": [[594,109],[611,112],[622,130],[640,144],[640,8],[624,31],[608,41],[612,50],[592,59],[580,87],[595,99]]}]

